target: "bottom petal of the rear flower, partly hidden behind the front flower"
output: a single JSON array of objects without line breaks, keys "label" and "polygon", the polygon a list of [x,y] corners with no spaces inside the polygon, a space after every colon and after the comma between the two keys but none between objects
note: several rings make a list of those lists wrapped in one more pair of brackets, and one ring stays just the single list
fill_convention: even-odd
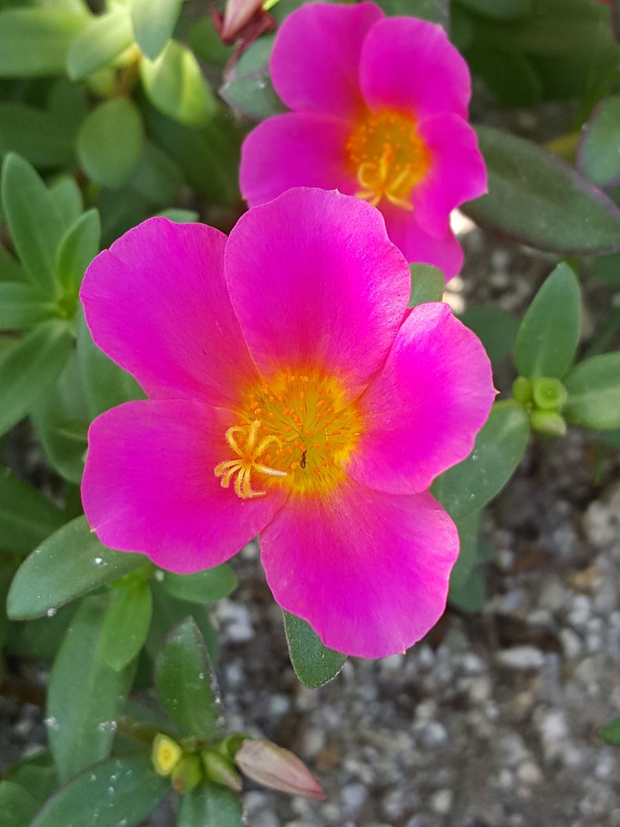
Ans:
[{"label": "bottom petal of the rear flower, partly hidden behind the front flower", "polygon": [[434,237],[420,227],[415,208],[410,213],[402,207],[383,202],[381,212],[384,214],[390,240],[403,251],[407,261],[439,267],[446,276],[446,281],[460,272],[463,250],[451,231],[447,218],[444,235]]}]

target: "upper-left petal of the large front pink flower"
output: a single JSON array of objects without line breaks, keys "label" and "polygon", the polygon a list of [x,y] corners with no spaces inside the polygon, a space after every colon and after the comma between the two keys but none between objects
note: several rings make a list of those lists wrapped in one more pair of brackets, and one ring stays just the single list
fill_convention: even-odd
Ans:
[{"label": "upper-left petal of the large front pink flower", "polygon": [[234,404],[256,380],[224,280],[226,241],[213,227],[150,218],[86,271],[94,341],[151,397]]}]

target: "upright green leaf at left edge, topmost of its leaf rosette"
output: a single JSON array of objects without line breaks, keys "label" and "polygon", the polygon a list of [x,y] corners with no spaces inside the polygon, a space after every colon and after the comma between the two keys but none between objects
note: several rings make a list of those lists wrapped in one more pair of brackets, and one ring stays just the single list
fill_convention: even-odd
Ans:
[{"label": "upright green leaf at left edge, topmost of its leaf rosette", "polygon": [[32,281],[53,294],[54,260],[64,232],[63,221],[36,171],[14,153],[2,164],[2,209],[22,265]]}]

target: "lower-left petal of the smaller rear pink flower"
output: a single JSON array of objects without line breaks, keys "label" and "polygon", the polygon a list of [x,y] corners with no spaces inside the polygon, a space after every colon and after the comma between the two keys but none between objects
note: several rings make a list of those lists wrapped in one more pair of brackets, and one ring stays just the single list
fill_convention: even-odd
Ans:
[{"label": "lower-left petal of the smaller rear pink flower", "polygon": [[241,147],[241,192],[250,207],[291,187],[355,193],[346,141],[351,125],[331,115],[289,112],[267,118]]}]

